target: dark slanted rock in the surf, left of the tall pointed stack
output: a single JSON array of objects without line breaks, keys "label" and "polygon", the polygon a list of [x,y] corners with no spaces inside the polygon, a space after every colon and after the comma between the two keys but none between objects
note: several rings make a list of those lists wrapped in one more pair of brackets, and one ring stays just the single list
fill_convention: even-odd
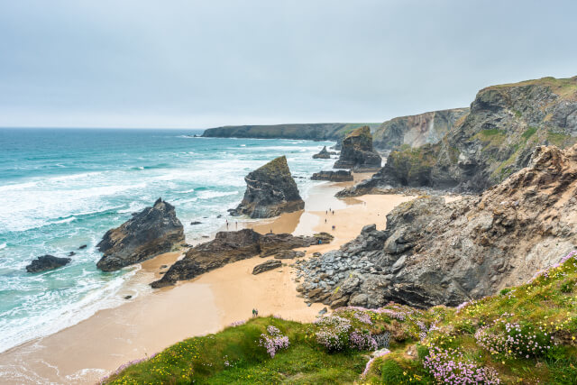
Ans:
[{"label": "dark slanted rock in the surf, left of the tall pointed stack", "polygon": [[159,198],[123,225],[108,230],[96,245],[104,256],[96,263],[100,270],[113,271],[169,252],[184,242],[184,229],[174,206]]}]

